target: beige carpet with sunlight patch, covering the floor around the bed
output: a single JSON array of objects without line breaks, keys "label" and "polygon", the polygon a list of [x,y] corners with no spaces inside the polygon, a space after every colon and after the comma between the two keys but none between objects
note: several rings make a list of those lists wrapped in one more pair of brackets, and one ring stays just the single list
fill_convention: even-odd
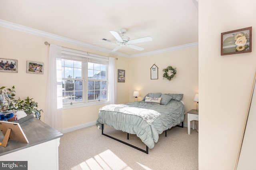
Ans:
[{"label": "beige carpet with sunlight patch, covering the floor around the bed", "polygon": [[[146,149],[136,135],[105,125],[104,133]],[[198,170],[198,132],[173,127],[163,132],[149,154],[101,134],[96,126],[64,134],[59,146],[60,170]]]}]

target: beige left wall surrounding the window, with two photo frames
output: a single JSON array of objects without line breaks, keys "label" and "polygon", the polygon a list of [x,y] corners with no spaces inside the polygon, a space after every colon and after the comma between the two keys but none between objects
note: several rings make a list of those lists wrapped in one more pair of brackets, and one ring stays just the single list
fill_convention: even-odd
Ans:
[{"label": "beige left wall surrounding the window, with two photo frames", "polygon": [[[7,86],[11,88],[15,86],[16,97],[25,99],[26,97],[34,98],[41,109],[45,111],[46,105],[46,87],[48,75],[48,55],[49,46],[44,42],[55,43],[63,47],[87,51],[109,57],[118,57],[116,60],[116,69],[124,69],[129,72],[129,59],[109,53],[87,49],[78,45],[72,45],[49,38],[44,38],[16,30],[0,27],[0,57],[18,60],[18,73],[0,72],[0,87]],[[38,61],[44,63],[44,74],[26,73],[26,62]],[[118,103],[127,103],[129,101],[129,91],[127,89],[129,79],[126,83],[117,84],[117,101]],[[102,105],[82,107],[76,109],[63,110],[63,128],[75,127],[78,125],[96,121],[98,117],[98,109]],[[44,121],[42,113],[42,121]],[[76,115],[77,119],[70,119],[71,115]]]}]

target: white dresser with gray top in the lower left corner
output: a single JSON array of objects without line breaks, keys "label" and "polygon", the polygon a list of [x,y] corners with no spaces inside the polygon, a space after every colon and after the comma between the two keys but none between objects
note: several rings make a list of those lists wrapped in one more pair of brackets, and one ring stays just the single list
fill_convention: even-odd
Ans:
[{"label": "white dresser with gray top in the lower left corner", "polygon": [[[36,118],[20,124],[29,143],[9,140],[0,146],[0,161],[28,161],[28,170],[58,170],[58,146],[63,134]],[[4,135],[0,133],[0,141]]]}]

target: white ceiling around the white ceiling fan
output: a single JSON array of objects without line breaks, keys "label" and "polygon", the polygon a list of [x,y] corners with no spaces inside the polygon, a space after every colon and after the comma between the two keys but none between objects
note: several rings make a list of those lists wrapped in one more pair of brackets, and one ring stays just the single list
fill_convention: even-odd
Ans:
[{"label": "white ceiling around the white ceiling fan", "polygon": [[196,3],[196,0],[0,0],[0,20],[107,51],[117,45],[92,43],[104,42],[102,38],[115,41],[110,30],[119,32],[125,28],[130,40],[153,38],[135,44],[144,47],[143,51],[128,47],[117,51],[130,56],[198,42]]}]

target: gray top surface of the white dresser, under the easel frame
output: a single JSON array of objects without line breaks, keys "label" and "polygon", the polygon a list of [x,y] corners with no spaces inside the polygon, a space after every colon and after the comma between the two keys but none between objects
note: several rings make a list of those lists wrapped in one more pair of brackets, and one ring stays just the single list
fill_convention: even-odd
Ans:
[{"label": "gray top surface of the white dresser, under the easel frame", "polygon": [[[37,144],[48,142],[50,140],[60,138],[63,136],[58,130],[46,125],[36,118],[29,119],[28,121],[20,124],[24,134],[26,135],[29,143],[17,142],[8,140],[7,146],[0,146],[0,156],[22,150]],[[0,132],[0,142],[4,139],[4,135]]]}]

